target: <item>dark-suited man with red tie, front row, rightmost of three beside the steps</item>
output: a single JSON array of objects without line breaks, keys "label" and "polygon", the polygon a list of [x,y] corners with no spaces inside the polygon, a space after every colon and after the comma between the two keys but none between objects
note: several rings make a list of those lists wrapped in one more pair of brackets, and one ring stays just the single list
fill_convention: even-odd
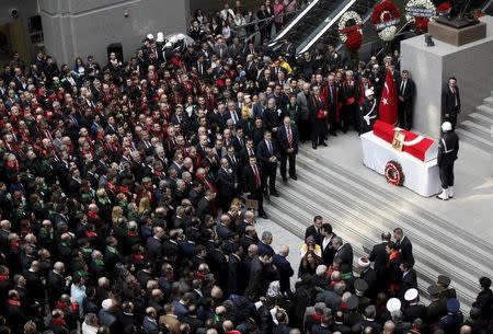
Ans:
[{"label": "dark-suited man with red tie, front row, rightmost of three beside the steps", "polygon": [[289,159],[289,177],[297,180],[296,176],[296,154],[298,154],[299,135],[298,128],[291,124],[291,119],[286,116],[283,120],[283,126],[277,131],[277,143],[279,145],[280,153],[280,176],[286,182],[286,163]]}]

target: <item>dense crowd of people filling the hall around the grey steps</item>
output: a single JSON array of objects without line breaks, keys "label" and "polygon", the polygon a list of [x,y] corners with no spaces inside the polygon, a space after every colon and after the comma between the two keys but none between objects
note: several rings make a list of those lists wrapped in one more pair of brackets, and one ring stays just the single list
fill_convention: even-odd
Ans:
[{"label": "dense crowd of people filling the hall around the grey steps", "polygon": [[128,61],[4,66],[0,333],[491,333],[490,278],[469,316],[445,276],[421,304],[400,229],[353,265],[317,216],[295,285],[289,246],[257,237],[278,165],[295,186],[300,141],[366,131],[398,54],[351,69],[333,46],[296,59],[207,24],[197,12],[194,44],[148,36]]}]

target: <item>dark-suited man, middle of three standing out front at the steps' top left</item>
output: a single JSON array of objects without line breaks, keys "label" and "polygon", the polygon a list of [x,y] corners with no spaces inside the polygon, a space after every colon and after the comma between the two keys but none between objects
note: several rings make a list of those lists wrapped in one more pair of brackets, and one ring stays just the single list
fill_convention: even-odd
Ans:
[{"label": "dark-suited man, middle of three standing out front at the steps' top left", "polygon": [[259,143],[256,154],[261,161],[261,168],[263,171],[262,185],[265,198],[268,200],[270,193],[275,197],[279,197],[279,194],[276,191],[277,147],[274,145],[272,134],[270,131],[264,133],[264,140]]}]

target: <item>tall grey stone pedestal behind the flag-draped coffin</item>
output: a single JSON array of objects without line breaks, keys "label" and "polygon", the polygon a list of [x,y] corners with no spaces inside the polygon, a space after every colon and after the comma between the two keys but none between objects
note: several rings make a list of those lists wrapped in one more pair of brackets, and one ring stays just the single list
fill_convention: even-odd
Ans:
[{"label": "tall grey stone pedestal behind the flag-draped coffin", "polygon": [[[439,138],[442,125],[442,90],[449,77],[456,77],[460,90],[459,122],[482,104],[493,88],[493,18],[481,18],[486,37],[462,46],[434,38],[427,47],[424,36],[401,42],[401,69],[406,69],[416,83],[414,130]],[[434,36],[435,37],[435,36]]]}]

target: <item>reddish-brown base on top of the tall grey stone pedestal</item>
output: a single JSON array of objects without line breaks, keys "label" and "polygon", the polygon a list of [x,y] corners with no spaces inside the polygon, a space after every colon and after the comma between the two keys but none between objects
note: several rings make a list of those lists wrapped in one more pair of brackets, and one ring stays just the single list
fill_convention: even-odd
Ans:
[{"label": "reddish-brown base on top of the tall grey stone pedestal", "polygon": [[438,22],[431,21],[428,23],[428,34],[431,34],[435,39],[455,46],[461,46],[471,42],[485,38],[486,23],[480,22],[471,26],[456,28]]}]

